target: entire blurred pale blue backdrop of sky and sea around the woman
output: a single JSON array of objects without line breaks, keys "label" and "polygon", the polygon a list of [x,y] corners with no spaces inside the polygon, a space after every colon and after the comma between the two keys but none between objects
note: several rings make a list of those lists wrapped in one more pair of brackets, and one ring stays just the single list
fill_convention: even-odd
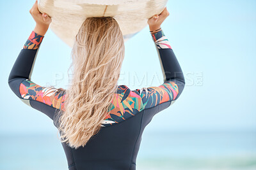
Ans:
[{"label": "entire blurred pale blue backdrop of sky and sea around the woman", "polygon": [[[68,169],[58,131],[8,87],[8,75],[35,27],[35,1],[0,1],[2,89],[0,169]],[[168,1],[162,29],[186,87],[144,131],[137,169],[256,169],[256,1]],[[71,48],[52,31],[31,80],[68,87]],[[125,43],[119,85],[158,86],[163,75],[148,27]]]}]

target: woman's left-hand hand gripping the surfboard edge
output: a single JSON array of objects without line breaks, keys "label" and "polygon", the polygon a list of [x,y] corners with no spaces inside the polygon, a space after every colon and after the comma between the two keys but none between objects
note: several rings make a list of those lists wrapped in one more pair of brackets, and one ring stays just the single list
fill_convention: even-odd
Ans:
[{"label": "woman's left-hand hand gripping the surfboard edge", "polygon": [[38,10],[37,0],[35,4],[32,6],[31,10],[29,10],[29,13],[31,13],[32,17],[36,22],[36,27],[34,31],[37,34],[44,36],[49,28],[49,25],[52,22],[51,17],[49,17],[49,15],[47,15],[46,13],[40,13],[40,11]]}]

